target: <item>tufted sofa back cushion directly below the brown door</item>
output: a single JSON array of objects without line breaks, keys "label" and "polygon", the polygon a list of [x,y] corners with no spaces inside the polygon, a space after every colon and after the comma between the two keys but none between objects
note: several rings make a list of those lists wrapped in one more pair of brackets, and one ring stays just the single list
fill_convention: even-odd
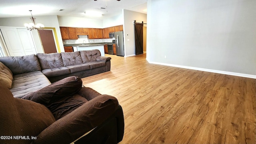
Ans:
[{"label": "tufted sofa back cushion directly below the brown door", "polygon": [[60,53],[51,53],[51,54],[38,53],[36,54],[36,56],[39,60],[42,70],[48,69],[48,68],[59,68],[64,66]]}]

